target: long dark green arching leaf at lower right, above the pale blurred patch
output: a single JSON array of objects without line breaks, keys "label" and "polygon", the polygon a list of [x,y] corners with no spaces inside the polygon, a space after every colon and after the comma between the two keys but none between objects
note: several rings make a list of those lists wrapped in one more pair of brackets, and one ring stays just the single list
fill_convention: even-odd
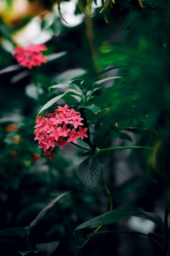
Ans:
[{"label": "long dark green arching leaf at lower right, above the pale blurred patch", "polygon": [[82,223],[75,230],[83,229],[85,227],[93,228],[101,225],[112,224],[119,220],[128,218],[130,216],[137,216],[140,218],[144,218],[146,220],[151,220],[152,222],[157,224],[161,229],[163,228],[161,224],[161,218],[159,216],[152,216],[150,213],[145,213],[135,207],[124,207],[121,209],[115,209],[113,211],[107,211],[102,215],[99,215],[91,220]]}]

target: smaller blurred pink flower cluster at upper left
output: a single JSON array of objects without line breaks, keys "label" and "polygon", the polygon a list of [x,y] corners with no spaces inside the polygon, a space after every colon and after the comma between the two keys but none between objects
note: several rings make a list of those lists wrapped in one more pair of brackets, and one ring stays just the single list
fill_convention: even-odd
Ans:
[{"label": "smaller blurred pink flower cluster at upper left", "polygon": [[20,66],[31,69],[32,67],[46,63],[46,56],[42,54],[42,51],[46,50],[45,45],[31,44],[25,48],[18,45],[15,47],[13,56]]}]

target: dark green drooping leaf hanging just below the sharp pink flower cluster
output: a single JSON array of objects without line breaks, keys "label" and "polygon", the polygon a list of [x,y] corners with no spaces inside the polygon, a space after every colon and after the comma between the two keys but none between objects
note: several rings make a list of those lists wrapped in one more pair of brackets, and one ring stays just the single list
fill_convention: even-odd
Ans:
[{"label": "dark green drooping leaf hanging just below the sharp pink flower cluster", "polygon": [[96,157],[91,156],[85,159],[77,167],[77,175],[86,186],[88,191],[95,197],[97,194],[101,166]]}]

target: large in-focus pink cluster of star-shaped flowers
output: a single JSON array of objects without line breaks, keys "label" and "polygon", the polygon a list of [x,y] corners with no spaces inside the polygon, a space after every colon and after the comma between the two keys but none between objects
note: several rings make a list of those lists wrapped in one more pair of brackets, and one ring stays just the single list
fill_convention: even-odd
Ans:
[{"label": "large in-focus pink cluster of star-shaped flowers", "polygon": [[69,109],[67,104],[64,107],[58,106],[54,113],[45,114],[36,120],[34,140],[38,140],[39,148],[43,148],[44,155],[52,160],[52,157],[56,157],[52,153],[56,145],[62,149],[68,142],[77,144],[77,138],[88,137],[87,128],[82,128],[82,120],[80,112]]}]

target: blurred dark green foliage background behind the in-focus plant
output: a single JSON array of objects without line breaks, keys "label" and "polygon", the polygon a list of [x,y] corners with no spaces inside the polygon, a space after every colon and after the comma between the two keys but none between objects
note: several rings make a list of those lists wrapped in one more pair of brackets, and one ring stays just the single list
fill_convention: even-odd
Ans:
[{"label": "blurred dark green foliage background behind the in-focus plant", "polygon": [[[61,2],[67,24],[55,0],[0,0],[0,250],[4,256],[30,250],[74,255],[89,233],[73,234],[75,227],[108,211],[102,184],[94,199],[77,177],[76,168],[85,159],[80,157],[83,150],[68,145],[50,161],[38,149],[33,127],[40,108],[58,93],[49,92],[51,85],[93,78],[112,65],[133,64],[99,78],[123,77],[105,82],[89,102],[110,108],[106,116],[88,120],[91,139],[98,148],[138,145],[155,151],[129,149],[99,155],[104,180],[114,208],[131,205],[163,215],[161,183],[165,186],[169,180],[170,164],[170,3],[144,0],[141,7],[137,0],[117,0],[99,13],[103,4],[92,2],[94,17],[88,17],[77,2]],[[16,45],[29,43],[44,43],[48,48],[47,63],[32,70],[18,66],[12,56]],[[77,101],[69,96],[58,102],[62,103],[74,106]],[[46,204],[66,191],[71,193],[30,232],[30,247],[23,242],[24,229],[2,231],[29,226]],[[128,219],[121,225],[138,231],[145,226],[146,233],[155,229],[150,222],[135,223]],[[118,223],[105,229],[119,227]],[[145,237],[110,233],[95,236],[79,253],[87,254],[160,252]]]}]

